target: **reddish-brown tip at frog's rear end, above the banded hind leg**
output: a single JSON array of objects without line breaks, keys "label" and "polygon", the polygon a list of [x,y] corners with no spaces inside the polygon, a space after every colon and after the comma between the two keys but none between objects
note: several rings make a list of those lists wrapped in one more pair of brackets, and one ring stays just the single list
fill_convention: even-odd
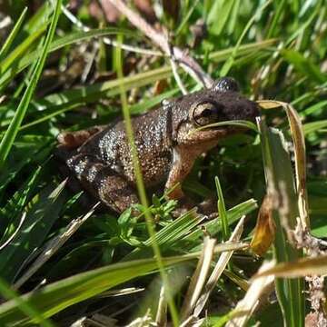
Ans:
[{"label": "reddish-brown tip at frog's rear end, above the banded hind leg", "polygon": [[94,134],[103,131],[104,128],[105,125],[99,125],[82,131],[63,132],[57,136],[57,141],[62,147],[73,150],[84,144]]}]

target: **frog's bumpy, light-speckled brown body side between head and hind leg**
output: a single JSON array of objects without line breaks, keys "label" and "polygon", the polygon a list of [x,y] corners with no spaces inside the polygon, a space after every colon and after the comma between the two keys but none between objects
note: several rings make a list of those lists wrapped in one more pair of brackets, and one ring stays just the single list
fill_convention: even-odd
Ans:
[{"label": "frog's bumpy, light-speckled brown body side between head and hind leg", "polygon": [[[152,186],[163,182],[172,163],[169,111],[158,108],[134,117],[132,124],[144,183]],[[96,155],[116,173],[124,175],[132,183],[135,182],[131,147],[123,121],[94,135],[79,151]]]}]

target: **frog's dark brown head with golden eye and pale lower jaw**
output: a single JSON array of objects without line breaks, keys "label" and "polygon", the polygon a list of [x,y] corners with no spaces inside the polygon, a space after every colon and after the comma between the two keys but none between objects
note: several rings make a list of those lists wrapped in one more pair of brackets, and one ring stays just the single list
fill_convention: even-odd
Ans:
[{"label": "frog's dark brown head with golden eye and pale lower jaw", "polygon": [[223,77],[212,88],[178,99],[173,110],[173,139],[177,144],[201,144],[241,132],[243,128],[223,125],[197,130],[224,121],[254,121],[258,105],[239,93],[235,80]]}]

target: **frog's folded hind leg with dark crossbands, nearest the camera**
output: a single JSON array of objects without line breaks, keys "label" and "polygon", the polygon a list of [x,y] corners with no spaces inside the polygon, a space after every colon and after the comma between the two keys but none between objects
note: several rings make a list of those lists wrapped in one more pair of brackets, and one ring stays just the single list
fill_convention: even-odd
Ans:
[{"label": "frog's folded hind leg with dark crossbands, nearest the camera", "polygon": [[133,186],[91,154],[75,154],[66,161],[84,188],[105,205],[122,213],[138,203]]}]

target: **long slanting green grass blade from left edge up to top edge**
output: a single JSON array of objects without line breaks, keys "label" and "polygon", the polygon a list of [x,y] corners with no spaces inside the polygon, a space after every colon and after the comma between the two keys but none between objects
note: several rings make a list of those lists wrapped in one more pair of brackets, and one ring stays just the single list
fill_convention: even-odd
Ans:
[{"label": "long slanting green grass blade from left edge up to top edge", "polygon": [[56,27],[56,24],[58,22],[58,18],[60,15],[61,3],[62,3],[61,0],[57,0],[56,6],[54,9],[54,15],[53,15],[52,22],[51,22],[51,25],[49,28],[49,32],[46,35],[45,45],[43,46],[40,59],[38,60],[38,62],[36,64],[35,72],[32,75],[31,81],[30,81],[28,87],[26,88],[25,94],[23,95],[22,100],[16,109],[15,116],[14,116],[12,122],[10,123],[8,129],[5,132],[5,136],[1,140],[0,169],[4,165],[5,159],[6,159],[7,155],[9,154],[11,147],[14,144],[15,136],[18,133],[18,129],[19,129],[20,125],[22,124],[22,121],[25,117],[26,110],[28,108],[28,104],[30,103],[32,96],[35,93],[36,84],[41,76],[43,67],[45,65],[45,59],[46,59],[46,55],[48,53],[49,45],[54,37],[55,27]]}]

